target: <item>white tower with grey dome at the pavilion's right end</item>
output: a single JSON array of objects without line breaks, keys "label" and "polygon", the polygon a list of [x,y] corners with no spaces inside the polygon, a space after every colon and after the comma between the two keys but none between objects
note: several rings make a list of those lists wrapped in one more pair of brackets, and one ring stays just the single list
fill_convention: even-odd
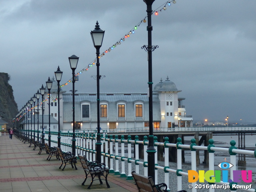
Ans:
[{"label": "white tower with grey dome at the pavilion's right end", "polygon": [[178,125],[178,90],[168,76],[164,82],[162,78],[154,87],[153,92],[158,93],[160,100],[161,127],[171,128]]}]

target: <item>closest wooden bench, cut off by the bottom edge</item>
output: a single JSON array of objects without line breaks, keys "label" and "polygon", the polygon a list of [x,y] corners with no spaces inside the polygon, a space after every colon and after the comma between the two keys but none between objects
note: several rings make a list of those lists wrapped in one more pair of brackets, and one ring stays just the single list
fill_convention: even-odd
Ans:
[{"label": "closest wooden bench, cut off by the bottom edge", "polygon": [[[167,192],[167,185],[165,183],[155,184],[150,176],[146,177],[135,171],[132,172],[132,176],[139,192]],[[178,192],[186,192],[186,190],[180,190]]]}]

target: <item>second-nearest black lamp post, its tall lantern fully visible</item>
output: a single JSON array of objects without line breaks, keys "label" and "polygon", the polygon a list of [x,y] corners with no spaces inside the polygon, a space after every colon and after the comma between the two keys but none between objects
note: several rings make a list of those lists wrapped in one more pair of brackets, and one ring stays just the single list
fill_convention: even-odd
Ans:
[{"label": "second-nearest black lamp post, its tall lantern fully visible", "polygon": [[100,140],[100,47],[104,38],[105,31],[100,29],[98,21],[96,22],[95,28],[91,31],[92,42],[96,48],[97,56],[97,142],[96,142],[96,160],[101,163],[101,140]]}]

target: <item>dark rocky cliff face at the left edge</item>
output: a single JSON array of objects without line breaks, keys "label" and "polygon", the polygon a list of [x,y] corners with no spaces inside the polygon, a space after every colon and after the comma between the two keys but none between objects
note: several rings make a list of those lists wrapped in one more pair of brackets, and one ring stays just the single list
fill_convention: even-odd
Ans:
[{"label": "dark rocky cliff face at the left edge", "polygon": [[8,122],[7,127],[12,127],[12,120],[18,114],[18,106],[14,100],[12,86],[8,83],[10,76],[0,73],[0,116]]}]

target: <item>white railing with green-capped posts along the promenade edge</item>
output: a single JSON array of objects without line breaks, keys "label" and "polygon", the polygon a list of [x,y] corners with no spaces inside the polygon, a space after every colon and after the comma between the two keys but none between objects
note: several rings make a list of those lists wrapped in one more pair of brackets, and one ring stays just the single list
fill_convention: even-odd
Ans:
[{"label": "white railing with green-capped posts along the promenade edge", "polygon": [[[120,174],[121,177],[126,177],[127,180],[132,179],[132,166],[135,167],[135,171],[137,173],[140,173],[140,167],[144,168],[144,175],[148,176],[148,156],[146,153],[146,149],[148,148],[148,140],[147,136],[144,136],[144,140],[138,140],[138,136],[135,136],[135,140],[131,140],[131,136],[128,135],[127,138],[124,138],[124,136],[115,136],[113,138],[112,135],[108,136],[106,132],[105,135],[101,137],[102,145],[101,145],[101,162],[105,162],[106,166],[109,166],[110,172],[114,174]],[[52,146],[57,146],[58,141],[58,132],[51,132],[52,138]],[[45,135],[46,142],[48,138],[48,132],[46,132]],[[235,144],[236,142],[234,140],[230,141],[230,148],[221,148],[221,147],[215,147],[214,141],[211,139],[209,140],[208,146],[196,146],[195,139],[191,140],[190,145],[184,145],[181,143],[181,138],[177,139],[177,143],[169,143],[168,137],[164,138],[165,142],[158,142],[157,137],[154,137],[154,145],[156,148],[156,154],[155,154],[155,182],[158,183],[158,173],[164,174],[164,182],[168,186],[168,190],[170,188],[173,188],[173,186],[170,186],[170,174],[175,174],[177,179],[177,190],[182,190],[182,183],[187,182],[188,185],[192,186],[192,192],[196,192],[196,185],[198,185],[196,182],[189,183],[188,182],[188,176],[189,173],[182,170],[182,150],[190,150],[191,155],[191,170],[198,171],[197,165],[196,165],[196,151],[207,151],[209,152],[209,166],[208,170],[215,170],[214,167],[214,156],[215,152],[224,152],[226,153],[227,157],[230,158],[230,163],[233,165],[230,168],[230,179],[234,180],[234,174],[233,171],[237,170],[236,166],[236,154],[246,154],[250,156],[256,157],[256,150],[250,151],[250,150],[239,150],[236,149]],[[95,161],[96,160],[96,136],[94,132],[76,132],[76,154],[82,154],[86,155],[88,160]],[[132,156],[132,145],[134,145],[135,148],[135,154]],[[139,158],[139,145],[143,145],[142,148],[144,148],[144,159]],[[164,165],[160,166],[158,165],[158,154],[157,151],[159,150],[159,147],[164,147]],[[177,164],[176,167],[170,168],[169,163],[169,148],[176,148],[177,150]],[[72,132],[61,132],[61,148],[64,151],[71,151],[72,150]],[[121,151],[121,152],[120,152]],[[170,154],[172,155],[172,154]],[[219,163],[219,162],[217,162]],[[119,165],[120,168],[119,168]],[[127,169],[128,167],[128,169]],[[214,173],[214,172],[213,172]],[[141,174],[141,173],[140,173]],[[249,174],[249,173],[248,173]],[[252,173],[255,174],[254,172]],[[211,177],[213,175],[210,175]],[[209,178],[211,178],[209,177]],[[249,176],[248,176],[249,178]],[[216,179],[217,180],[217,179]],[[224,180],[224,179],[223,179]],[[212,186],[230,186],[230,189],[232,188],[232,184],[235,184],[234,182],[228,182],[223,180],[217,180],[207,183],[206,186],[209,187],[209,191],[213,192],[214,188]],[[162,182],[162,181],[161,181]],[[200,181],[200,184],[201,183]],[[204,183],[205,184],[205,183]],[[212,186],[211,186],[212,185]],[[238,185],[239,186],[239,183]],[[249,185],[247,185],[249,186]],[[250,187],[250,186],[249,186]],[[172,189],[173,190],[173,189]],[[176,190],[176,189],[174,189]],[[246,189],[242,189],[246,190]],[[246,191],[249,192],[255,192],[254,189],[249,188]]]}]

